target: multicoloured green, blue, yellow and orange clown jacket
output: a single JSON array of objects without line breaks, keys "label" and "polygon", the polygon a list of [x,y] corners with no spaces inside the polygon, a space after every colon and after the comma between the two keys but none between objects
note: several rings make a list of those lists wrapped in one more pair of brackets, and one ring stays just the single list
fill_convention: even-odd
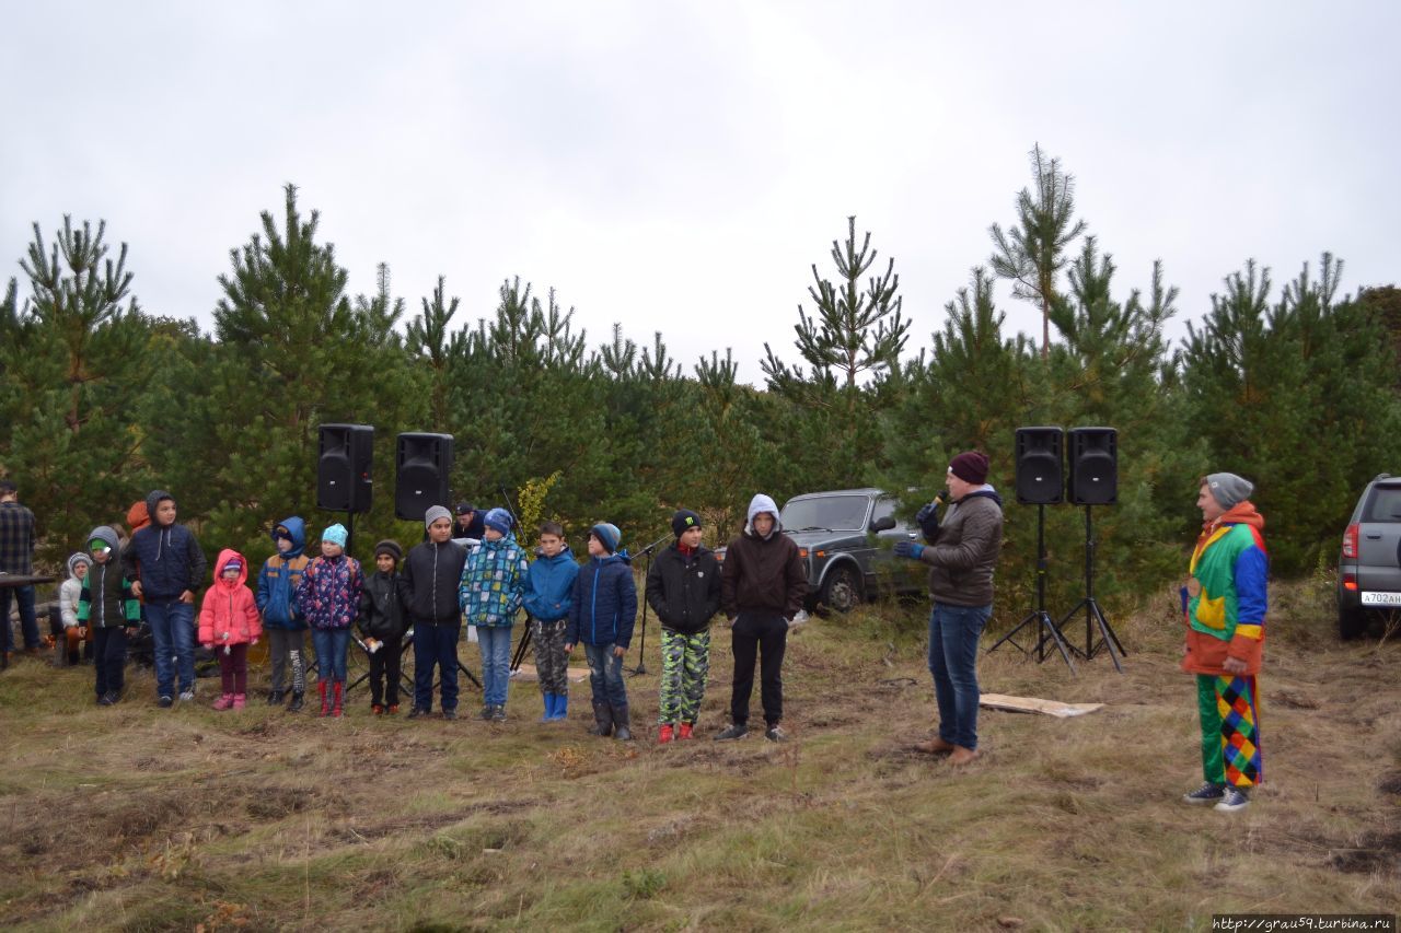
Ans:
[{"label": "multicoloured green, blue, yellow and orange clown jacket", "polygon": [[1268,609],[1269,556],[1261,516],[1250,502],[1202,527],[1192,549],[1191,577],[1182,590],[1189,674],[1223,674],[1227,657],[1259,671]]}]

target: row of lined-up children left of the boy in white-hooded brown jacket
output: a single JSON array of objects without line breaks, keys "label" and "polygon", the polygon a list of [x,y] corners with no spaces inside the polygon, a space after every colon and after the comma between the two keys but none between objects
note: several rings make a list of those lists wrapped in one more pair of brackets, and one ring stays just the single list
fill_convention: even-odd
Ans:
[{"label": "row of lined-up children left of the boy in white-hooded brown jacket", "polygon": [[[172,705],[177,671],[179,696],[193,699],[198,637],[220,664],[221,691],[213,707],[242,709],[248,699],[248,649],[266,637],[272,667],[268,703],[284,703],[290,688],[287,709],[301,710],[310,629],[321,716],[342,716],[346,654],[352,626],[357,626],[370,661],[374,714],[399,712],[401,656],[412,629],[409,717],[432,713],[437,677],[441,714],[455,719],[457,646],[465,622],[475,629],[482,654],[481,717],[503,721],[511,633],[524,608],[544,698],[541,721],[567,717],[567,660],[580,644],[593,691],[590,731],[632,738],[622,658],[632,640],[637,593],[632,559],[621,549],[622,534],[615,525],[600,523],[588,530],[588,563],[580,566],[558,523],[539,527],[535,559],[530,560],[504,509],[486,511],[481,539],[464,546],[453,539],[451,513],[434,506],[425,514],[426,539],[406,556],[398,542],[378,542],[375,572],[366,577],[360,563],[345,553],[347,535],[342,525],[332,524],[321,534],[321,553],[310,559],[304,553],[305,523],[290,517],[273,527],[277,551],[258,572],[256,591],[247,586],[247,559],[230,548],[219,553],[196,625],[195,593],[205,573],[198,542],[188,528],[175,524],[175,502],[168,493],[153,492],[146,506],[151,523],[133,531],[125,546],[113,528],[94,528],[87,553],[69,559],[70,579],[60,587],[63,622],[73,630],[67,651],[71,654],[83,637],[94,642],[99,705],[122,698],[126,642],[140,625],[144,602],[154,642],[157,703],[163,707]],[[671,525],[675,542],[658,553],[646,588],[663,626],[663,742],[693,737],[709,672],[709,626],[722,608],[720,565],[700,544],[700,516],[681,510]]]}]

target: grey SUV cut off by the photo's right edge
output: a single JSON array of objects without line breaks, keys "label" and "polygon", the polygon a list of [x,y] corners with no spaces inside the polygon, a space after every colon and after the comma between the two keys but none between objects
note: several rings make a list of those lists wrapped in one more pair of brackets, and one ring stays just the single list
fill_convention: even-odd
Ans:
[{"label": "grey SUV cut off by the photo's right edge", "polygon": [[1380,474],[1342,532],[1338,635],[1355,639],[1373,616],[1391,614],[1401,614],[1401,476]]}]

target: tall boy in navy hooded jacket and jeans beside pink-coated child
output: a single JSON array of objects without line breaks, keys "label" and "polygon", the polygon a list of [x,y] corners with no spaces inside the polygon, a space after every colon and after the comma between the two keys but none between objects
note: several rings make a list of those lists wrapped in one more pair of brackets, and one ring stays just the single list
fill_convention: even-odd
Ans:
[{"label": "tall boy in navy hooded jacket and jeans beside pink-coated child", "polygon": [[151,490],[146,510],[151,524],[132,535],[122,551],[122,569],[133,581],[132,593],[146,604],[156,650],[157,703],[168,709],[175,699],[177,674],[181,700],[195,699],[195,591],[205,583],[205,552],[189,528],[175,524],[175,497],[168,492]]}]

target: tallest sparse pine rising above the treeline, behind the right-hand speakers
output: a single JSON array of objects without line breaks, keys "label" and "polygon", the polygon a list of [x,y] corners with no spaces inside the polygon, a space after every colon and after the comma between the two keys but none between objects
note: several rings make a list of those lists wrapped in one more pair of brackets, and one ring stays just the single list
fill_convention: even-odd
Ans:
[{"label": "tallest sparse pine rising above the treeline, behind the right-hand speakers", "polygon": [[1031,150],[1035,193],[1023,188],[1017,195],[1017,226],[992,234],[992,270],[1013,282],[1012,296],[1041,307],[1041,359],[1051,353],[1051,307],[1056,297],[1056,276],[1066,263],[1066,248],[1084,233],[1075,214],[1075,175],[1061,170],[1061,160],[1047,158],[1037,144]]}]

